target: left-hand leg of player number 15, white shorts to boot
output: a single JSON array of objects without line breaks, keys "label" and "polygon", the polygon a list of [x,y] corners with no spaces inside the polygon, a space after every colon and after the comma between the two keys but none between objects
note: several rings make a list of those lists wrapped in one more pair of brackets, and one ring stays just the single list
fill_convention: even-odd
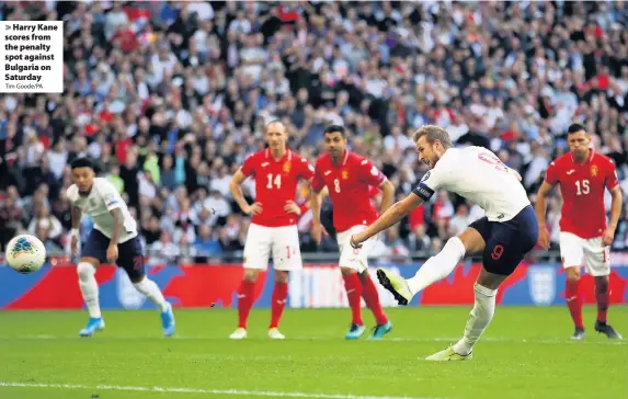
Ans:
[{"label": "left-hand leg of player number 15, white shorts to boot", "polygon": [[583,240],[571,232],[561,232],[559,236],[560,256],[564,267],[564,299],[571,320],[573,320],[572,340],[584,338],[582,322],[582,297],[580,295],[580,269],[583,260]]}]

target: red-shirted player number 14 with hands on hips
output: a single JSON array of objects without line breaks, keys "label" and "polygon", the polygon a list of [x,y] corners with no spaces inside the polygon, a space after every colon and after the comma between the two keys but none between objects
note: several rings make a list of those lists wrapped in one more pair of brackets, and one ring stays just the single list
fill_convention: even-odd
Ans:
[{"label": "red-shirted player number 14 with hands on hips", "polygon": [[[277,329],[288,296],[288,272],[302,267],[297,219],[301,214],[295,203],[297,182],[309,181],[313,168],[305,158],[286,148],[287,133],[278,122],[266,126],[269,148],[249,156],[236,172],[229,190],[240,209],[253,215],[244,243],[244,276],[238,290],[239,324],[231,339],[247,338],[247,320],[254,301],[254,287],[260,271],[269,266],[273,255],[275,288],[273,290],[269,338],[284,339]],[[240,184],[255,179],[255,202],[248,204]]]}]

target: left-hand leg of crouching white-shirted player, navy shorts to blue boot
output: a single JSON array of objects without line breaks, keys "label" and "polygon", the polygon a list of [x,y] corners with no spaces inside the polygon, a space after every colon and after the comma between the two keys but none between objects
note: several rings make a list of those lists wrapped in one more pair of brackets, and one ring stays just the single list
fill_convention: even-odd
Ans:
[{"label": "left-hand leg of crouching white-shirted player, navy shorts to blue boot", "polygon": [[79,288],[88,307],[90,319],[85,327],[79,331],[80,337],[91,337],[95,331],[104,329],[104,320],[101,315],[99,301],[99,284],[95,278],[96,267],[106,262],[106,249],[109,238],[96,229],[92,229],[84,247],[81,249],[81,258],[77,266]]}]

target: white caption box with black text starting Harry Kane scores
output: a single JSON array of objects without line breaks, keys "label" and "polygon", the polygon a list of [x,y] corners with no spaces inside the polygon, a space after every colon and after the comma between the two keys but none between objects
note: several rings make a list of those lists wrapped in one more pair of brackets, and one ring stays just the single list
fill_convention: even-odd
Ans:
[{"label": "white caption box with black text starting Harry Kane scores", "polygon": [[62,93],[62,21],[1,21],[0,66],[0,93]]}]

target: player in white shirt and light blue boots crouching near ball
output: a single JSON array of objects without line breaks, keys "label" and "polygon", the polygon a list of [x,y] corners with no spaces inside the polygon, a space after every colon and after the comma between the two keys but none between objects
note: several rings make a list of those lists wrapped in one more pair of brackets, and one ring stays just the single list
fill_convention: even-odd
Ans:
[{"label": "player in white shirt and light blue boots crouching near ball", "polygon": [[68,187],[67,195],[72,205],[72,254],[79,253],[82,214],[88,214],[94,221],[77,267],[79,287],[90,314],[88,324],[79,335],[91,337],[105,326],[99,305],[99,286],[94,277],[101,263],[117,264],[125,270],[135,288],[157,305],[161,314],[163,335],[172,335],[172,306],[165,301],[157,284],[146,276],[137,223],[130,216],[122,196],[107,180],[95,178],[91,160],[75,159],[71,169],[75,184]]}]

